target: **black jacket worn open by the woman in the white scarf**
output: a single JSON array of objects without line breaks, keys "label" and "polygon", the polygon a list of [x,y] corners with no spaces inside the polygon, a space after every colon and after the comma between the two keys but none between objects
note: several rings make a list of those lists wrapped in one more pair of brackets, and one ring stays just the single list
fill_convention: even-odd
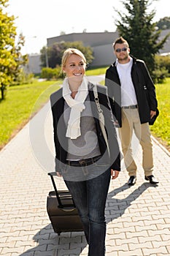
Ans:
[{"label": "black jacket worn open by the woman in the white scarf", "polygon": [[[120,170],[120,149],[117,143],[117,134],[115,131],[115,124],[112,118],[112,111],[107,97],[107,88],[104,86],[97,86],[98,99],[101,109],[104,113],[105,128],[108,135],[110,157],[107,152],[107,145],[102,135],[100,124],[98,121],[98,110],[96,102],[94,101],[93,84],[88,82],[88,91],[90,97],[90,105],[93,112],[93,118],[96,123],[96,132],[98,136],[98,144],[101,155],[107,156],[110,167],[114,170]],[[55,171],[60,171],[60,164],[66,164],[68,138],[66,138],[66,124],[63,120],[64,99],[62,96],[63,89],[55,91],[50,96],[51,108],[53,113],[53,129],[54,129],[54,143],[55,143]],[[106,154],[107,153],[107,154]]]}]

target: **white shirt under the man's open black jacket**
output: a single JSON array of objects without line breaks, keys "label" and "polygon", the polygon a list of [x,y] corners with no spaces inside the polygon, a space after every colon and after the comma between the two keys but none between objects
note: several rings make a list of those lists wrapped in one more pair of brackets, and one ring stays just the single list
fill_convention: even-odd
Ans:
[{"label": "white shirt under the man's open black jacket", "polygon": [[128,61],[128,63],[125,64],[120,64],[118,61],[116,61],[117,72],[121,83],[121,107],[137,105],[134,84],[131,79],[132,64],[132,58],[130,61]]}]

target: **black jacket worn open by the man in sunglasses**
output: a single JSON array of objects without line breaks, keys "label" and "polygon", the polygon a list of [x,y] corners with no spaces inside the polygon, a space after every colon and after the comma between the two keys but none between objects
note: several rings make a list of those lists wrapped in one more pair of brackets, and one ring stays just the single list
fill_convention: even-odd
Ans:
[{"label": "black jacket worn open by the man in sunglasses", "polygon": [[[132,57],[132,56],[131,56]],[[136,99],[139,108],[141,124],[150,121],[150,110],[156,110],[158,102],[155,96],[155,86],[147,70],[144,61],[133,58],[131,78],[136,92]],[[106,72],[105,85],[108,87],[108,94],[112,113],[117,119],[119,126],[122,126],[121,115],[121,91],[120,78],[114,62]]]}]

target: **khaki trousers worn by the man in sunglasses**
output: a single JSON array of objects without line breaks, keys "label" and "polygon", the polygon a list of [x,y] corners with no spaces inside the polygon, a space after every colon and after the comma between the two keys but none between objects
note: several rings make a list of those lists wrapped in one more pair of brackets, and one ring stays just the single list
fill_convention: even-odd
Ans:
[{"label": "khaki trousers worn by the man in sunglasses", "polygon": [[142,146],[142,167],[144,175],[152,175],[152,141],[149,123],[141,124],[138,109],[122,108],[122,127],[119,129],[126,170],[129,176],[136,176],[136,163],[132,156],[131,140],[133,131]]}]

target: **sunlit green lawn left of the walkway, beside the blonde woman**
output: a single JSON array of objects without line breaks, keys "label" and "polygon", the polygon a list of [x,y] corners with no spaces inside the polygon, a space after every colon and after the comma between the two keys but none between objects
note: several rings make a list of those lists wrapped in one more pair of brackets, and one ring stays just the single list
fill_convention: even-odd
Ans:
[{"label": "sunlit green lawn left of the walkway, beside the blonde woman", "polygon": [[20,130],[50,94],[58,90],[62,80],[43,81],[9,87],[7,99],[0,102],[0,148]]}]

